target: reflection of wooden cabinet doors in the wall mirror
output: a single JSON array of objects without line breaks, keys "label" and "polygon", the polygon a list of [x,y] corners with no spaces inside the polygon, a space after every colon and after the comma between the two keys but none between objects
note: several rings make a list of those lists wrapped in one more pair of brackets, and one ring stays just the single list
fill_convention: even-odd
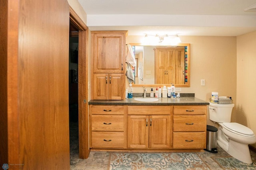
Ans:
[{"label": "reflection of wooden cabinet doors in the wall mirror", "polygon": [[184,47],[155,48],[155,84],[185,84]]}]

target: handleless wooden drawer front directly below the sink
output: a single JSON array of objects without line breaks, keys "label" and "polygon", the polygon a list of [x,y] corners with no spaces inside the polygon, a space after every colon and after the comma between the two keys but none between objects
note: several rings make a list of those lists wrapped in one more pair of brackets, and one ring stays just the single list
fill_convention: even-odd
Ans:
[{"label": "handleless wooden drawer front directly below the sink", "polygon": [[172,106],[128,106],[128,115],[170,115]]}]

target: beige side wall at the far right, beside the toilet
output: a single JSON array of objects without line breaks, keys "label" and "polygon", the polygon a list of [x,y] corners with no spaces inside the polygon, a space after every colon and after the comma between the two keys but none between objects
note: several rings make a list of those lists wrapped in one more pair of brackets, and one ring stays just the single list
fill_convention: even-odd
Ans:
[{"label": "beige side wall at the far right, beside the toilet", "polygon": [[[256,134],[256,31],[237,37],[237,122]],[[253,145],[256,147],[256,144]]]}]

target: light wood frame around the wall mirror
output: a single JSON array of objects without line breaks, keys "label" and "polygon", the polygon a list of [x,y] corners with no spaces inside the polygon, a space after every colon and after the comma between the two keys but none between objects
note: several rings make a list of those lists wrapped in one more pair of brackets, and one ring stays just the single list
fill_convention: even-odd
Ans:
[{"label": "light wood frame around the wall mirror", "polygon": [[[154,46],[154,45],[144,45],[142,43],[130,43],[131,46]],[[167,45],[155,45],[155,46],[167,46]],[[175,46],[187,46],[188,52],[188,83],[187,84],[174,84],[175,87],[190,87],[190,43],[180,43]],[[133,87],[163,87],[170,86],[170,84],[132,84]]]}]

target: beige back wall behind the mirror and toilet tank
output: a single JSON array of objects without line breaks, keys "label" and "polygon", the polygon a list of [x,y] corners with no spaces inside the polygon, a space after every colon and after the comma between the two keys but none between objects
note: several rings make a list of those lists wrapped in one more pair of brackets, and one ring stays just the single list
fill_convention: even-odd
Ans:
[{"label": "beige back wall behind the mirror and toilet tank", "polygon": [[[141,38],[128,36],[126,43],[140,43]],[[180,39],[182,43],[190,43],[191,57],[190,88],[181,88],[180,93],[195,93],[196,98],[208,102],[211,93],[218,92],[219,96],[231,96],[236,104],[236,37],[181,36]],[[201,79],[205,80],[205,86],[200,85]],[[134,92],[142,93],[143,89],[134,88]],[[236,121],[236,105],[231,120]],[[213,125],[210,120],[207,123]]]}]

